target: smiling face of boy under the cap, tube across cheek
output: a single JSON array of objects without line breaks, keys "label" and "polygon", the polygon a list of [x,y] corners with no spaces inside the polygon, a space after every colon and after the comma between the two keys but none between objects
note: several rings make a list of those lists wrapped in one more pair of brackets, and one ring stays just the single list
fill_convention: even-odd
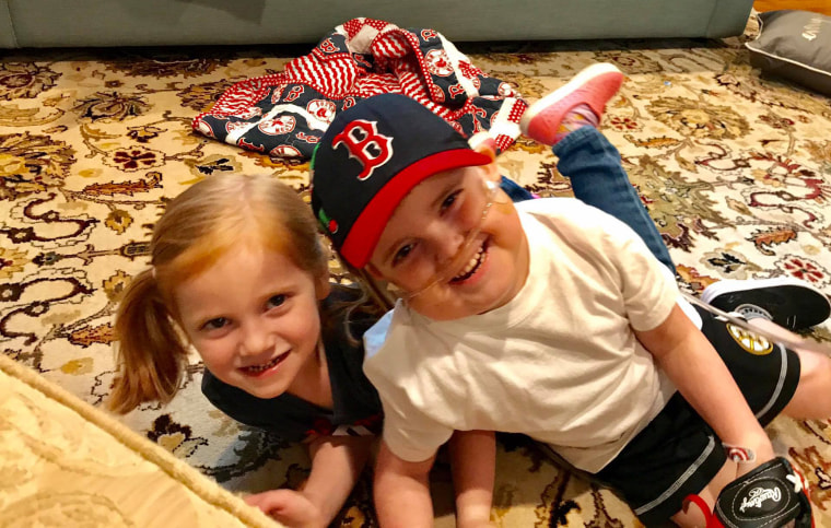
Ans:
[{"label": "smiling face of boy under the cap, tube across cheek", "polygon": [[[421,291],[408,304],[432,319],[492,310],[525,284],[528,243],[511,200],[498,191],[481,220],[485,178],[499,179],[495,163],[445,171],[413,187],[370,259],[368,271],[403,290],[405,296]],[[463,248],[477,225],[479,233]],[[440,280],[423,290],[435,278]]]}]

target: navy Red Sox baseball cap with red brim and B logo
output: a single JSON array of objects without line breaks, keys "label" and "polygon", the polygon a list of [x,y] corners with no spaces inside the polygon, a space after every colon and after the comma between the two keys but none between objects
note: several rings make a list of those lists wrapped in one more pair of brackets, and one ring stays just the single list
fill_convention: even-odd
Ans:
[{"label": "navy Red Sox baseball cap with red brim and B logo", "polygon": [[360,269],[413,187],[490,162],[417,101],[375,95],[338,114],[320,139],[312,156],[312,209],[338,253]]}]

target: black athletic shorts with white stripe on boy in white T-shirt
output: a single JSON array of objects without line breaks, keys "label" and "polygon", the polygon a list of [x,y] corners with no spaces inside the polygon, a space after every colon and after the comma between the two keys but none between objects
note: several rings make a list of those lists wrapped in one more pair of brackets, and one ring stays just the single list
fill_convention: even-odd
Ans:
[{"label": "black athletic shorts with white stripe on boy in white T-shirt", "polygon": [[[698,308],[713,343],[764,426],[791,401],[799,382],[799,356],[780,344],[754,340]],[[735,337],[734,337],[735,336]],[[726,461],[721,439],[680,394],[596,478],[616,491],[646,526],[664,526]]]}]

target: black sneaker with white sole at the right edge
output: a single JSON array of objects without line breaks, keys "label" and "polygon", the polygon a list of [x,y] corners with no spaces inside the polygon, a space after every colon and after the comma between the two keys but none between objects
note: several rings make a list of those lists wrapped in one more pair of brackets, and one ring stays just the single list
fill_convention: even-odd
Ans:
[{"label": "black sneaker with white sole at the right edge", "polygon": [[724,312],[753,305],[770,314],[779,326],[803,330],[828,319],[831,303],[809,283],[791,277],[761,280],[727,280],[710,284],[701,300]]}]

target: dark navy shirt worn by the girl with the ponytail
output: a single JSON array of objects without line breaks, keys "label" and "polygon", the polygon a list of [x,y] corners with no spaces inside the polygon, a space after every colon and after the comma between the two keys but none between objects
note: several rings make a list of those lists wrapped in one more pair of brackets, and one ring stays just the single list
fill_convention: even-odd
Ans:
[{"label": "dark navy shirt worn by the girl with the ponytail", "polygon": [[[332,289],[332,293],[324,300],[324,308],[331,307],[332,303],[352,301],[359,295],[358,291],[352,293]],[[359,340],[356,345],[350,344],[347,339],[342,318],[331,321],[323,331],[332,409],[319,407],[288,392],[277,398],[257,398],[221,382],[207,368],[202,377],[202,394],[234,420],[274,433],[286,442],[301,442],[317,435],[378,434],[382,424],[381,400],[363,373],[364,350],[360,342],[375,318],[356,319],[350,321],[351,333]]]}]

